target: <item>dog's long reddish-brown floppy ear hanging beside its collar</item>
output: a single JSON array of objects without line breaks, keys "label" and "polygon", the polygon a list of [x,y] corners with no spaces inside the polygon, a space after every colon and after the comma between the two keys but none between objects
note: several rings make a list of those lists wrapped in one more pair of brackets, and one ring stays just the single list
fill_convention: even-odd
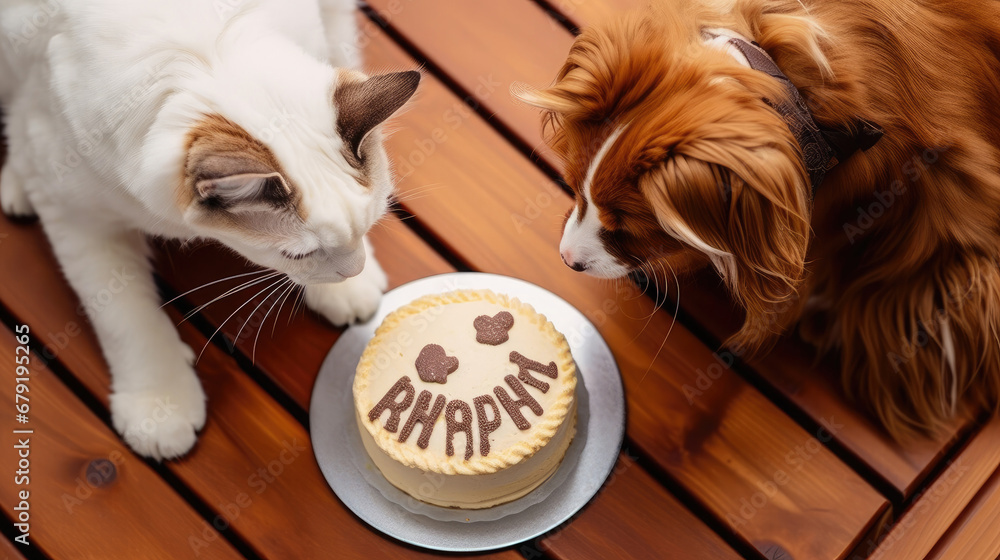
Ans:
[{"label": "dog's long reddish-brown floppy ear hanging beside its collar", "polygon": [[[807,176],[789,142],[763,140],[772,131],[726,128],[678,146],[639,185],[660,226],[712,260],[746,310],[729,343],[754,351],[796,306],[809,240]],[[787,128],[774,132],[788,136]]]}]

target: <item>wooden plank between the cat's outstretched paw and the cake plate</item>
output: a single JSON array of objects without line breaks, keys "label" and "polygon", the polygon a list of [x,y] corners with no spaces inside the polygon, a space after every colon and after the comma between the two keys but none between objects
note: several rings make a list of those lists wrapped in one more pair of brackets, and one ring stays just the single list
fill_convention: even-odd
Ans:
[{"label": "wooden plank between the cat's outstretched paw and the cake plate", "polygon": [[[180,330],[193,347],[205,343],[192,327]],[[208,347],[198,371],[209,398],[209,424],[194,452],[170,466],[206,501],[221,505],[219,514],[263,556],[318,558],[331,550],[338,558],[359,560],[435,556],[384,538],[355,518],[326,485],[305,428],[218,347]],[[236,509],[238,514],[227,513]],[[204,544],[214,548],[207,539]]]}]

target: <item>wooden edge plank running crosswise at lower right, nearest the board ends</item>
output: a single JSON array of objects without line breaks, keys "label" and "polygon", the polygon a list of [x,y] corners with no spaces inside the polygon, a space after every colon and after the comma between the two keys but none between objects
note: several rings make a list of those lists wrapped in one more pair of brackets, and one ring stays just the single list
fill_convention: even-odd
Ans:
[{"label": "wooden edge plank running crosswise at lower right, nearest the board ends", "polygon": [[862,543],[858,555],[871,560],[927,557],[946,532],[960,523],[963,512],[997,468],[1000,468],[1000,419],[983,427],[880,539]]}]

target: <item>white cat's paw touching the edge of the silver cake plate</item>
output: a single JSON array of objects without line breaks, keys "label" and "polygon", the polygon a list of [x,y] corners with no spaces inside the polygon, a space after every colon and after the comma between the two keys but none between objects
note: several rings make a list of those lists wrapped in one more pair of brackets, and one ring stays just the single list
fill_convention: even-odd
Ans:
[{"label": "white cat's paw touching the edge of the silver cake plate", "polygon": [[309,309],[334,325],[347,325],[375,314],[388,283],[378,261],[369,259],[361,274],[353,278],[336,284],[306,286],[305,301]]}]

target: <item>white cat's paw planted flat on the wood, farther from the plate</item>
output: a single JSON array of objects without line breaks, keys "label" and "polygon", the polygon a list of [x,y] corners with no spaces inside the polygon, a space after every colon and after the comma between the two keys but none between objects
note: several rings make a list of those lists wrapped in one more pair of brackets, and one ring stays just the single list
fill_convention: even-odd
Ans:
[{"label": "white cat's paw planted flat on the wood, farther from the plate", "polygon": [[193,371],[183,375],[168,389],[111,395],[111,421],[136,453],[159,461],[194,447],[205,425],[205,392]]}]

